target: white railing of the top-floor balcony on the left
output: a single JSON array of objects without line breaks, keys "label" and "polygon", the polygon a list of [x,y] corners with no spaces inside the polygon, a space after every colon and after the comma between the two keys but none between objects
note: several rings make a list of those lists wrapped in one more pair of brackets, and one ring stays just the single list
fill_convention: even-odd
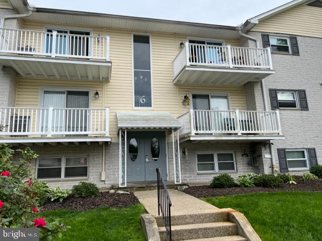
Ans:
[{"label": "white railing of the top-floor balcony on the left", "polygon": [[109,36],[0,28],[0,52],[109,60]]}]

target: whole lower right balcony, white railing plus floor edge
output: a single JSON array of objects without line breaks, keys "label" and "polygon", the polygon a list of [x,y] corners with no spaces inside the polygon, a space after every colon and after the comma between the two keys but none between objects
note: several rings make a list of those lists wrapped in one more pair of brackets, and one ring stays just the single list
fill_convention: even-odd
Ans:
[{"label": "whole lower right balcony, white railing plus floor edge", "polygon": [[194,110],[178,117],[183,141],[268,141],[284,139],[279,111]]}]

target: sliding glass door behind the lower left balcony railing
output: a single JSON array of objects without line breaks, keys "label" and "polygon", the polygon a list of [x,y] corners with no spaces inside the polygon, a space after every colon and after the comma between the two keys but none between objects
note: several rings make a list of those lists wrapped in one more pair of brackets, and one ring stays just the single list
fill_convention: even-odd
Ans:
[{"label": "sliding glass door behind the lower left balcony railing", "polygon": [[[89,126],[88,110],[89,91],[67,89],[45,89],[42,92],[41,107],[54,107],[52,131],[75,132],[87,131]],[[42,131],[48,130],[48,110],[40,115]]]}]

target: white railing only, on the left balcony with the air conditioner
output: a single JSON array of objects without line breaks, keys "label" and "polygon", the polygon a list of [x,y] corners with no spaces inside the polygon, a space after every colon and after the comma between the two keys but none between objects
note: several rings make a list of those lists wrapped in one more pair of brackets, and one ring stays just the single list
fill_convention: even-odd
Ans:
[{"label": "white railing only, on the left balcony with the air conditioner", "polygon": [[109,108],[0,107],[0,136],[109,136]]}]

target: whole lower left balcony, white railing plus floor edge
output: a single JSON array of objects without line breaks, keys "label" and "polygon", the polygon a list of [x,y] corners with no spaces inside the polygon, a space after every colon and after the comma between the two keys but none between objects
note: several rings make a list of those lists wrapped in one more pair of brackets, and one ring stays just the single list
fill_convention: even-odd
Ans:
[{"label": "whole lower left balcony, white railing plus floor edge", "polygon": [[0,143],[85,141],[111,141],[108,107],[0,107]]}]

